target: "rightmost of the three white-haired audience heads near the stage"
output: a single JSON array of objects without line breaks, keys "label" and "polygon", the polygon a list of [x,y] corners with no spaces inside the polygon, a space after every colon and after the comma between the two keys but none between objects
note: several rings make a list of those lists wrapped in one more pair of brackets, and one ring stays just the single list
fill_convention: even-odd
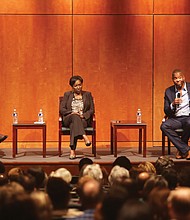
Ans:
[{"label": "rightmost of the three white-haired audience heads near the stage", "polygon": [[118,165],[111,169],[111,172],[108,176],[108,180],[111,185],[122,182],[126,178],[129,178],[129,171],[126,168],[120,167]]}]

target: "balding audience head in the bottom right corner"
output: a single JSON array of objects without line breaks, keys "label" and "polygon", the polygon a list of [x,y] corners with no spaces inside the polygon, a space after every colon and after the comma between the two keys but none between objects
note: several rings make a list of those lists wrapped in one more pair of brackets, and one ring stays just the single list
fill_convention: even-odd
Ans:
[{"label": "balding audience head in the bottom right corner", "polygon": [[170,219],[190,219],[190,188],[179,187],[170,192],[168,197]]}]

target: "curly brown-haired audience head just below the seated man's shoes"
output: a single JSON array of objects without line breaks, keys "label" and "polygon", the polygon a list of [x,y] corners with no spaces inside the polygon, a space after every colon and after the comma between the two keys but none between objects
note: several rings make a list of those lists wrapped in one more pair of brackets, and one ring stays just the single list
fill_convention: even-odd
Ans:
[{"label": "curly brown-haired audience head just below the seated man's shoes", "polygon": [[156,173],[160,175],[164,169],[174,168],[174,161],[168,156],[160,156],[155,162]]}]

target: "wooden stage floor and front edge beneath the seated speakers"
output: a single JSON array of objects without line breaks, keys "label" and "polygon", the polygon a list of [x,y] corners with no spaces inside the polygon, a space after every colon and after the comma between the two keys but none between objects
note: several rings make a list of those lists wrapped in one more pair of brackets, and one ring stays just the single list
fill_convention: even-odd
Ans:
[{"label": "wooden stage floor and front edge beneath the seated speakers", "polygon": [[[110,153],[110,146],[97,148],[97,156],[94,157],[91,154],[91,147],[79,147],[77,149],[77,158],[75,160],[69,159],[69,148],[62,148],[62,156],[58,156],[58,149],[47,148],[46,157],[42,156],[42,148],[18,148],[18,154],[15,158],[12,156],[12,147],[3,148],[3,144],[0,145],[0,160],[5,164],[6,172],[12,167],[21,167],[27,169],[30,166],[41,166],[49,174],[52,170],[60,167],[67,168],[72,175],[78,175],[78,163],[83,157],[91,158],[94,163],[99,163],[104,166],[108,171],[111,170],[112,163],[116,159],[114,155]],[[170,157],[174,160],[177,169],[185,165],[189,165],[190,161],[185,159],[175,159],[176,149],[171,147]],[[133,166],[137,166],[141,162],[149,161],[153,164],[159,156],[162,154],[161,147],[148,147],[147,155],[143,157],[138,153],[138,149],[135,147],[119,147],[118,156],[126,156],[129,158]]]}]

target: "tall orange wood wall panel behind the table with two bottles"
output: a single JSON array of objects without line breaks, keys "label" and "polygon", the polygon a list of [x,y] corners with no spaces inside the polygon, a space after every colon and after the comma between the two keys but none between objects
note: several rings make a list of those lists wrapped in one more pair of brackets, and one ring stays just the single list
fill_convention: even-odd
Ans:
[{"label": "tall orange wood wall panel behind the table with two bottles", "polygon": [[1,132],[12,139],[14,107],[22,121],[42,108],[47,138],[57,141],[58,96],[72,75],[71,17],[0,16],[0,26]]}]

